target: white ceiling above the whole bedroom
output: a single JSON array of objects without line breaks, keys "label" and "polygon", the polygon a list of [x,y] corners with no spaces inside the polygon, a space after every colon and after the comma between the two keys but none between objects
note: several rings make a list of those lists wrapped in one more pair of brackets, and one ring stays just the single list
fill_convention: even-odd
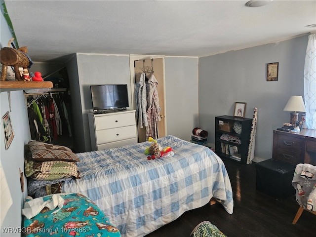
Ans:
[{"label": "white ceiling above the whole bedroom", "polygon": [[5,0],[19,46],[37,62],[76,52],[200,57],[316,29],[306,27],[316,24],[316,0],[246,2]]}]

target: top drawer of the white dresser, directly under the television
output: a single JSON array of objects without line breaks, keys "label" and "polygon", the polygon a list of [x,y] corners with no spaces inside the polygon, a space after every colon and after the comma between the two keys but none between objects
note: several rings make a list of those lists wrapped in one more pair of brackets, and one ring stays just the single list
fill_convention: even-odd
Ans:
[{"label": "top drawer of the white dresser, directly under the television", "polygon": [[95,117],[95,130],[135,125],[135,113]]}]

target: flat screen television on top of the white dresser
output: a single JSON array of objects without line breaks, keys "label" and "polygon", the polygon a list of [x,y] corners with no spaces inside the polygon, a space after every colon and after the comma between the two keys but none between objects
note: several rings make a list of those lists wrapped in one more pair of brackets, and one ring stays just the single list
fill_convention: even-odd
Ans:
[{"label": "flat screen television on top of the white dresser", "polygon": [[94,112],[126,110],[129,106],[127,84],[91,85]]}]

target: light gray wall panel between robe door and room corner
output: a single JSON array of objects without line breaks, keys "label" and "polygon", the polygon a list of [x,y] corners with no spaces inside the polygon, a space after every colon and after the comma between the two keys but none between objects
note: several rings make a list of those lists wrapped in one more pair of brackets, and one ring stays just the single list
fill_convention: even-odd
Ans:
[{"label": "light gray wall panel between robe door and room corner", "polygon": [[198,125],[198,58],[165,57],[167,134],[190,141]]}]

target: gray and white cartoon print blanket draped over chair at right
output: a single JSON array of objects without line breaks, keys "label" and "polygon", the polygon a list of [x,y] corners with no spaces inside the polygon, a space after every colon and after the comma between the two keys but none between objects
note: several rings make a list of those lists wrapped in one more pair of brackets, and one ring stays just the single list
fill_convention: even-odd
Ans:
[{"label": "gray and white cartoon print blanket draped over chair at right", "polygon": [[316,166],[297,164],[292,185],[297,202],[306,210],[316,211]]}]

